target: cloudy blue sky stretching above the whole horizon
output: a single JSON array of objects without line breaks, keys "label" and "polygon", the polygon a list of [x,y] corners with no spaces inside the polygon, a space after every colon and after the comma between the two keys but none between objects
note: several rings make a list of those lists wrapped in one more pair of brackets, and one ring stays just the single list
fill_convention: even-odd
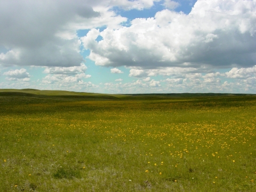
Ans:
[{"label": "cloudy blue sky stretching above the whole horizon", "polygon": [[1,0],[0,89],[256,94],[256,0]]}]

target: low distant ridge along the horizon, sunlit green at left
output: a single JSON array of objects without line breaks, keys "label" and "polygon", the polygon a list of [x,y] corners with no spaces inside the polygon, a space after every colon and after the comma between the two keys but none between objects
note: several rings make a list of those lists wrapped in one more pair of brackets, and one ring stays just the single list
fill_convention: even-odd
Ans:
[{"label": "low distant ridge along the horizon, sunlit green at left", "polygon": [[158,100],[158,99],[179,99],[196,97],[241,97],[256,96],[255,94],[230,94],[230,93],[151,93],[151,94],[99,94],[75,92],[66,90],[38,90],[38,89],[0,89],[0,96],[5,97],[44,97],[44,98],[65,98],[65,99],[97,99],[97,100]]}]

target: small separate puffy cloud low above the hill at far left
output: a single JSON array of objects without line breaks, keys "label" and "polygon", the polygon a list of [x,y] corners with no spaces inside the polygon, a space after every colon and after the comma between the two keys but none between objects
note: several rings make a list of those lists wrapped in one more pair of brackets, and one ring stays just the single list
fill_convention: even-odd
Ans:
[{"label": "small separate puffy cloud low above the hill at far left", "polygon": [[10,71],[4,72],[4,76],[7,76],[6,79],[11,81],[17,81],[17,80],[29,81],[30,80],[29,78],[30,75],[26,69],[10,70]]}]

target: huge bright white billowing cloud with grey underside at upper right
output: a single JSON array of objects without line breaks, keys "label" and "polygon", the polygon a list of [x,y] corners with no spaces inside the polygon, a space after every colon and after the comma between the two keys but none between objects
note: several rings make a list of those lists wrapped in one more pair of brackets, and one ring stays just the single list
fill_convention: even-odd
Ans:
[{"label": "huge bright white billowing cloud with grey underside at upper right", "polygon": [[[255,12],[254,1],[198,0],[188,15],[163,10],[81,40],[102,66],[250,67],[256,62]],[[98,35],[102,40],[95,40]]]}]

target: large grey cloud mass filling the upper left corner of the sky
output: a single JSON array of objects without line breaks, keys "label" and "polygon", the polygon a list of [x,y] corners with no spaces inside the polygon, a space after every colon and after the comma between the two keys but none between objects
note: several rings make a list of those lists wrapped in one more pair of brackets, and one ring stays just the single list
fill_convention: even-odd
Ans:
[{"label": "large grey cloud mass filling the upper left corner of the sky", "polygon": [[127,21],[113,11],[143,10],[159,0],[57,0],[0,2],[0,64],[79,66],[81,40],[76,31],[107,26],[121,27]]}]

